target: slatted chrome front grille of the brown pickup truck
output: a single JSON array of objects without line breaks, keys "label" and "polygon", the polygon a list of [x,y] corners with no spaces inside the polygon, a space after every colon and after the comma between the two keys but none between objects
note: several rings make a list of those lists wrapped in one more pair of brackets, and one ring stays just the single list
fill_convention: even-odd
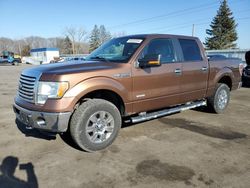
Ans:
[{"label": "slatted chrome front grille of the brown pickup truck", "polygon": [[34,102],[34,90],[35,90],[36,78],[21,74],[18,86],[18,95],[22,99],[28,102]]}]

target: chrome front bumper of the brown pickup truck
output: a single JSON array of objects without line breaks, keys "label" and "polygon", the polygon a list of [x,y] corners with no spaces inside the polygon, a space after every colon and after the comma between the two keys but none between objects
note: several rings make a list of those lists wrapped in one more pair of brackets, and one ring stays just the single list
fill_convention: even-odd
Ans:
[{"label": "chrome front bumper of the brown pickup truck", "polygon": [[48,132],[61,133],[67,131],[71,112],[49,113],[24,109],[13,105],[16,118],[26,125],[27,129],[41,129]]}]

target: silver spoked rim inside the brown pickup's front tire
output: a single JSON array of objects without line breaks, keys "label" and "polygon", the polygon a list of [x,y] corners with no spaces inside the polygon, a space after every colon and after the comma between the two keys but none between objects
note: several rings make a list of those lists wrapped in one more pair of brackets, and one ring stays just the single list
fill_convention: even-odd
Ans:
[{"label": "silver spoked rim inside the brown pickup's front tire", "polygon": [[106,111],[97,111],[87,121],[86,134],[95,144],[105,142],[114,132],[114,117]]}]

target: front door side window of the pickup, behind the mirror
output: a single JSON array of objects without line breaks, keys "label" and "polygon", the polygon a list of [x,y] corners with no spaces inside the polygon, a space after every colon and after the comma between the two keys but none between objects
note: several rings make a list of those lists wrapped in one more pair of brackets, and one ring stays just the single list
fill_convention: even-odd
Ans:
[{"label": "front door side window of the pickup, behind the mirror", "polygon": [[171,39],[153,39],[143,49],[139,59],[147,59],[155,55],[160,55],[161,63],[170,63],[177,61]]}]

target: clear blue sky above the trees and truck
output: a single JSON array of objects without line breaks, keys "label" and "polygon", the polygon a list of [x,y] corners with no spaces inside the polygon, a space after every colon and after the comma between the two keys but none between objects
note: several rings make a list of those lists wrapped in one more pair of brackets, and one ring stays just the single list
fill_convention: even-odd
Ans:
[{"label": "clear blue sky above the trees and truck", "polygon": [[[238,23],[238,47],[250,49],[250,0],[228,0]],[[68,26],[90,33],[95,24],[112,34],[168,33],[205,41],[220,0],[0,0],[0,37],[63,36]]]}]

